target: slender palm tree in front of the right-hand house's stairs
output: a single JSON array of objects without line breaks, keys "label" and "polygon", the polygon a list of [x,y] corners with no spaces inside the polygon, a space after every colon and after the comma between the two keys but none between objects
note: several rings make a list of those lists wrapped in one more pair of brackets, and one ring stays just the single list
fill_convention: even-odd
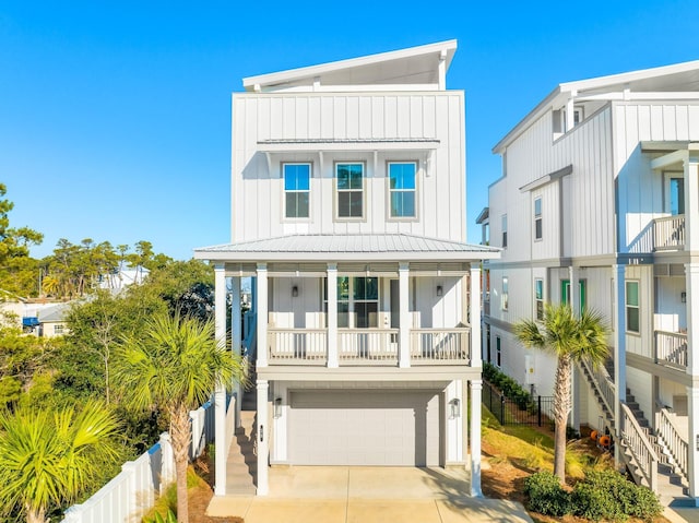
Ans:
[{"label": "slender palm tree in front of the right-hand house's stairs", "polygon": [[566,304],[546,304],[541,324],[522,320],[514,324],[514,335],[525,347],[553,353],[558,362],[554,384],[554,474],[566,483],[566,427],[571,411],[570,383],[572,364],[587,360],[593,367],[604,362],[608,354],[607,328],[602,316],[585,310],[576,317]]}]

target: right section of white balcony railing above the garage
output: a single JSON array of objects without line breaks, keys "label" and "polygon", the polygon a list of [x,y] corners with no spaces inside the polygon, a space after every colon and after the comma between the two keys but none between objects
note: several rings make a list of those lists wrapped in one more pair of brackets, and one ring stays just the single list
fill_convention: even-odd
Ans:
[{"label": "right section of white balcony railing above the garage", "polygon": [[471,329],[414,329],[411,330],[411,361],[467,362],[471,358]]}]

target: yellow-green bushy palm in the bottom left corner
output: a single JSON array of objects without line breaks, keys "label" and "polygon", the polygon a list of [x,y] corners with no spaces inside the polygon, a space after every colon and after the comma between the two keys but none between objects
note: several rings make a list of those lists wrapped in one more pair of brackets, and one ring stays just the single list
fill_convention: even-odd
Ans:
[{"label": "yellow-green bushy palm in the bottom left corner", "polygon": [[0,412],[0,504],[46,523],[47,509],[75,501],[94,486],[99,467],[119,457],[119,424],[102,404],[81,411]]}]

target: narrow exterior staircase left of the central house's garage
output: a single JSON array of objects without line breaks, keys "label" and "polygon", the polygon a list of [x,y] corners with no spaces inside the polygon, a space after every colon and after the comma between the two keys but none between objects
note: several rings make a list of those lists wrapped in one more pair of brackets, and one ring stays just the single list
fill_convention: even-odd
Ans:
[{"label": "narrow exterior staircase left of the central house's garage", "polygon": [[[254,383],[254,378],[250,378]],[[226,467],[227,496],[254,496],[257,492],[257,391],[242,392],[240,408],[240,426],[236,428],[235,438],[228,449]]]}]

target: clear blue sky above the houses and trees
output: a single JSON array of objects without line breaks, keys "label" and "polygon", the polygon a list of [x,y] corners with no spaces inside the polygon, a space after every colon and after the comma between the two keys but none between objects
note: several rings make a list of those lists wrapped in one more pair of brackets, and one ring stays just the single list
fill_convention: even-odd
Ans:
[{"label": "clear blue sky above the houses and trees", "polygon": [[457,38],[469,240],[490,153],[558,83],[699,59],[696,0],[0,0],[0,181],[13,226],[177,259],[229,240],[230,93],[241,79]]}]

